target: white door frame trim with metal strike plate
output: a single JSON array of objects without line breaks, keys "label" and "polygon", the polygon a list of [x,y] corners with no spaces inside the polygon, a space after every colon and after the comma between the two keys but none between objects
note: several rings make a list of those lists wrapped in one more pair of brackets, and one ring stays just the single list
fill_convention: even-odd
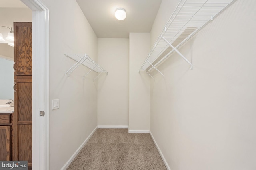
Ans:
[{"label": "white door frame trim with metal strike plate", "polygon": [[21,1],[32,10],[32,169],[49,170],[49,9]]}]

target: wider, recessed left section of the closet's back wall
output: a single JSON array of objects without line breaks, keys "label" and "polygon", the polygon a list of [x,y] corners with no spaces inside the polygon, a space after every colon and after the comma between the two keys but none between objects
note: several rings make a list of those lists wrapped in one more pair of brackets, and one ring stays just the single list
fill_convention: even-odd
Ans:
[{"label": "wider, recessed left section of the closet's back wall", "polygon": [[129,39],[98,38],[98,64],[108,72],[98,78],[98,125],[128,126]]}]

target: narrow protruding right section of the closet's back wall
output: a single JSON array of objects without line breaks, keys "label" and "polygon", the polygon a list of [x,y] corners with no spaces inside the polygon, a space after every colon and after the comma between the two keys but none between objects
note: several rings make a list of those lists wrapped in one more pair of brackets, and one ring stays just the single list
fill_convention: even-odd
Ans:
[{"label": "narrow protruding right section of the closet's back wall", "polygon": [[130,33],[129,132],[149,131],[150,77],[138,70],[150,51],[150,33]]}]

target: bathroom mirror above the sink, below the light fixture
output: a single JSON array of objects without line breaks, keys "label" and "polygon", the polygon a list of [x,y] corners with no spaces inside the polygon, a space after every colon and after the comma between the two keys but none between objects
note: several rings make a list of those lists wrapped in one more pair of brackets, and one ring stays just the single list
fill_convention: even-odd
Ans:
[{"label": "bathroom mirror above the sink, below the light fixture", "polygon": [[14,47],[0,43],[0,99],[14,99]]}]

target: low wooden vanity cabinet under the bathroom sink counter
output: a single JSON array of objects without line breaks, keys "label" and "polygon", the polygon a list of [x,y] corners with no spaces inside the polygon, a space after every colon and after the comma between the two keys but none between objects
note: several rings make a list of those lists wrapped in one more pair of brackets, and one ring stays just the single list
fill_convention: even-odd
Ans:
[{"label": "low wooden vanity cabinet under the bathroom sink counter", "polygon": [[0,160],[10,160],[10,114],[0,113]]}]

